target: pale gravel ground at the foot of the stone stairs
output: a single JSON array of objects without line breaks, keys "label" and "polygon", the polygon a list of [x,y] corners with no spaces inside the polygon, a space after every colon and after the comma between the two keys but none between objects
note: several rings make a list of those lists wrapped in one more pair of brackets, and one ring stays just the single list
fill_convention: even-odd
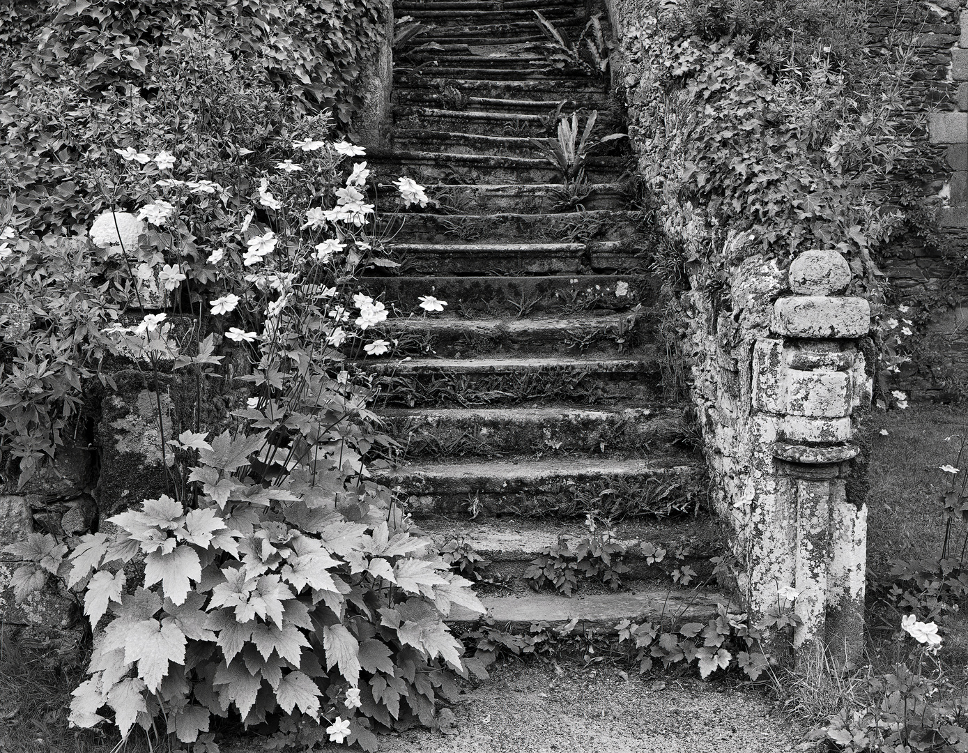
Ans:
[{"label": "pale gravel ground at the foot of the stone stairs", "polygon": [[[766,696],[692,678],[620,678],[611,667],[535,662],[494,670],[454,708],[452,734],[380,738],[385,753],[781,753],[806,730]],[[227,751],[225,746],[223,750]],[[346,750],[329,745],[327,751]],[[231,753],[255,753],[231,748]],[[228,751],[227,751],[228,753]]]}]

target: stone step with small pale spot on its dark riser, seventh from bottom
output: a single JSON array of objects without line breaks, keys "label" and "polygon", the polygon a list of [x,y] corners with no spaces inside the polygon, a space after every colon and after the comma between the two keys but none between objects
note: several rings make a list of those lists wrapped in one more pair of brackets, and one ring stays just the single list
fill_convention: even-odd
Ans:
[{"label": "stone step with small pale spot on its dark riser, seventh from bottom", "polygon": [[361,282],[370,295],[403,311],[416,311],[419,297],[433,294],[447,301],[449,310],[467,316],[517,315],[523,309],[556,314],[624,311],[638,303],[652,305],[659,290],[659,281],[650,275],[379,277]]}]

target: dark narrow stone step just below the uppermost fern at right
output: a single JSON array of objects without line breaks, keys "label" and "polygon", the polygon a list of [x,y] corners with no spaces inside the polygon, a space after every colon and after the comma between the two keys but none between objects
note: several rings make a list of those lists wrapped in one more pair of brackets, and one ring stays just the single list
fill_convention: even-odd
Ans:
[{"label": "dark narrow stone step just below the uppermost fern at right", "polygon": [[594,79],[566,78],[560,80],[507,81],[488,78],[446,78],[424,74],[395,72],[394,91],[435,90],[442,92],[447,87],[475,97],[504,97],[525,100],[541,100],[557,105],[562,99],[581,97],[597,98],[609,96],[607,88]]}]

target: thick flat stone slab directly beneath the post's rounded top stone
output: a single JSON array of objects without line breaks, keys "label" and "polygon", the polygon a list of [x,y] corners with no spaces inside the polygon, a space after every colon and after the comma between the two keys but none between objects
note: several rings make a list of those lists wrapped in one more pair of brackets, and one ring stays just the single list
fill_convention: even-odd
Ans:
[{"label": "thick flat stone slab directly beneath the post's rounded top stone", "polygon": [[773,304],[771,330],[786,337],[862,337],[870,330],[870,304],[856,297],[791,295]]}]

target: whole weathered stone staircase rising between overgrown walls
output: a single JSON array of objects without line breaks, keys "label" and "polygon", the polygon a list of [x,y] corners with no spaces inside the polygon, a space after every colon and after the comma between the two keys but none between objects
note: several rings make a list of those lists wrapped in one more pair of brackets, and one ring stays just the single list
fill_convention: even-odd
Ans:
[{"label": "whole weathered stone staircase rising between overgrown walls", "polygon": [[[599,135],[621,113],[602,79],[546,61],[532,9],[572,38],[588,18],[570,0],[395,4],[398,19],[431,28],[397,54],[392,144],[367,158],[402,262],[399,275],[365,281],[394,312],[382,336],[397,341],[392,358],[361,362],[403,447],[379,480],[440,545],[464,541],[493,561],[499,583],[481,593],[499,622],[704,617],[718,594],[694,586],[721,554],[719,531],[700,504],[705,468],[685,407],[663,400],[657,281],[622,180],[627,147],[594,152],[587,185],[569,193],[531,141],[555,133],[562,100],[562,115],[584,113],[582,128],[597,110]],[[400,175],[438,205],[393,211]],[[447,302],[443,314],[420,312],[428,294]],[[529,561],[586,534],[591,510],[614,513],[620,540],[666,549],[665,564],[695,582],[674,585],[669,567],[634,550],[617,593],[531,591]]]}]

